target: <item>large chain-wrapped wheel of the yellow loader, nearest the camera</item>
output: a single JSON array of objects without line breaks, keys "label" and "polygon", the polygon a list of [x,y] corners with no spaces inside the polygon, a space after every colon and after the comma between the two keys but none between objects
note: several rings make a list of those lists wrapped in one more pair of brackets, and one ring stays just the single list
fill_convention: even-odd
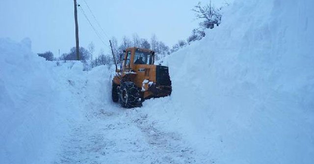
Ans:
[{"label": "large chain-wrapped wheel of the yellow loader, nearest the camera", "polygon": [[139,90],[134,82],[123,82],[119,91],[119,102],[122,107],[132,108],[139,103]]}]

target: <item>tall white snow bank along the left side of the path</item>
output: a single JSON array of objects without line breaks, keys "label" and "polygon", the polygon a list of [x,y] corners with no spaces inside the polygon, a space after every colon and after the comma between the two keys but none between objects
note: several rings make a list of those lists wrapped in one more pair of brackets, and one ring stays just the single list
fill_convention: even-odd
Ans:
[{"label": "tall white snow bank along the left side of the path", "polygon": [[45,164],[82,115],[82,65],[47,62],[31,42],[0,39],[1,164]]}]

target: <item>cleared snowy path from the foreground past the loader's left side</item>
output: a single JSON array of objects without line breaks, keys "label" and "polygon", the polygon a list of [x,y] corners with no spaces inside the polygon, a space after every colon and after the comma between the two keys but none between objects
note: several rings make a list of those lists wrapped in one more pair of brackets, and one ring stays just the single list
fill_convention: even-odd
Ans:
[{"label": "cleared snowy path from the foreground past the loader's left side", "polygon": [[78,96],[85,117],[72,123],[53,164],[211,163],[195,159],[200,156],[181,134],[167,131],[144,108],[111,102],[111,78],[105,67],[97,69],[87,79],[70,79],[68,89]]}]

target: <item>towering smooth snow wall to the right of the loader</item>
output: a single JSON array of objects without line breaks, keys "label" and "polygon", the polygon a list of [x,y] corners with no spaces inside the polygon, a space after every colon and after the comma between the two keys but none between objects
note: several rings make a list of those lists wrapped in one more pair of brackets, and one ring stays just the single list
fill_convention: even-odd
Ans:
[{"label": "towering smooth snow wall to the right of the loader", "polygon": [[144,110],[224,164],[314,163],[314,1],[235,0]]}]

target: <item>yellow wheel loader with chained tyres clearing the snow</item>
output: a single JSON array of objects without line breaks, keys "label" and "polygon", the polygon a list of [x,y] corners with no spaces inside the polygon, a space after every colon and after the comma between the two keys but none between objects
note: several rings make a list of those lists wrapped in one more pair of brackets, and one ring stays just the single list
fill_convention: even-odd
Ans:
[{"label": "yellow wheel loader with chained tyres clearing the snow", "polygon": [[112,80],[112,101],[120,102],[123,107],[132,108],[141,106],[146,99],[170,95],[172,87],[168,67],[154,65],[154,62],[154,51],[127,48],[124,55],[115,62],[116,75]]}]

